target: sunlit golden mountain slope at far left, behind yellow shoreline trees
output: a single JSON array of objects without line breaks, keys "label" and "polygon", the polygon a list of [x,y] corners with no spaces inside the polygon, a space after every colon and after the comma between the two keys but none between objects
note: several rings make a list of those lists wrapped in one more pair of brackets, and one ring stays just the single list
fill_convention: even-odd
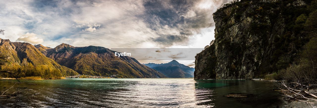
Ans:
[{"label": "sunlit golden mountain slope at far left, behind yellow shoreline trees", "polygon": [[77,75],[78,73],[65,66],[61,66],[54,60],[45,57],[36,47],[29,43],[11,42],[9,39],[0,39],[0,49],[2,53],[9,56],[9,63],[20,64],[25,58],[35,66],[47,65],[48,67],[58,69],[63,76]]}]

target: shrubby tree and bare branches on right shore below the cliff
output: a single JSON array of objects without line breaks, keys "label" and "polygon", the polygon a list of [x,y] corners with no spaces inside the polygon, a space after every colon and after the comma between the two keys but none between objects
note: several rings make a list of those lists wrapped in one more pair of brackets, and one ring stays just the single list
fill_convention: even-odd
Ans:
[{"label": "shrubby tree and bare branches on right shore below the cliff", "polygon": [[[317,38],[312,38],[305,45],[302,51],[300,60],[298,64],[293,64],[287,69],[282,69],[280,71],[283,80],[280,85],[280,89],[283,91],[285,96],[292,99],[297,99],[298,101],[307,102],[300,100],[301,98],[314,100],[317,103],[317,99],[307,97],[307,94],[317,98],[315,94],[310,93],[309,89],[317,87],[317,73],[316,62],[317,62]],[[307,102],[311,103],[311,102]]]}]

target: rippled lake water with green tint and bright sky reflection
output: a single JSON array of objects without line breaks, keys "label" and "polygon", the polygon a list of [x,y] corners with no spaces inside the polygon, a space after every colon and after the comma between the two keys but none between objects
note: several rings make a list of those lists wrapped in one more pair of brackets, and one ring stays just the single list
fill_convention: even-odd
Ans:
[{"label": "rippled lake water with green tint and bright sky reflection", "polygon": [[[0,81],[0,89],[14,83]],[[5,107],[218,107],[274,108],[281,95],[273,82],[193,79],[62,79],[27,81],[22,97],[0,100]],[[248,98],[224,97],[248,93]],[[281,107],[281,106],[279,106]]]}]

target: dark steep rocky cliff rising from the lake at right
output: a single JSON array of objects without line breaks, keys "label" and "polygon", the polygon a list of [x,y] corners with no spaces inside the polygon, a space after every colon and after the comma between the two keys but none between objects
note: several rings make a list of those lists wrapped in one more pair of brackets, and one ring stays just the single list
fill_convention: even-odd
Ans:
[{"label": "dark steep rocky cliff rising from the lake at right", "polygon": [[261,78],[287,67],[307,41],[289,27],[305,7],[301,0],[241,0],[218,9],[215,41],[197,54],[195,79]]}]

